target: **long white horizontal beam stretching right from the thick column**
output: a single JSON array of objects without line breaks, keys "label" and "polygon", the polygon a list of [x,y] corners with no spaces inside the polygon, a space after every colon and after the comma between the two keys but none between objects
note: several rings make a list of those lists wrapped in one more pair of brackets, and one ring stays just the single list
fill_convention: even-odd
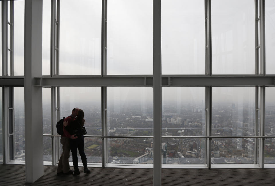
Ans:
[{"label": "long white horizontal beam stretching right from the thick column", "polygon": [[[1,82],[0,82],[1,83]],[[56,86],[152,86],[153,77],[42,77],[35,85]],[[275,86],[274,76],[162,77],[162,86]]]}]

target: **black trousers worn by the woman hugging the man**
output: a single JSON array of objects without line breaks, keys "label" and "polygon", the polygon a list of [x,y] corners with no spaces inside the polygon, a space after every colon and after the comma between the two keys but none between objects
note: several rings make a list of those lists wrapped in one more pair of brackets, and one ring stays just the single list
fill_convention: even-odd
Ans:
[{"label": "black trousers worn by the woman hugging the man", "polygon": [[72,151],[72,162],[75,165],[78,165],[77,149],[81,157],[84,167],[87,167],[87,159],[84,152],[84,136],[78,136],[78,138],[72,140],[70,139],[70,149]]}]

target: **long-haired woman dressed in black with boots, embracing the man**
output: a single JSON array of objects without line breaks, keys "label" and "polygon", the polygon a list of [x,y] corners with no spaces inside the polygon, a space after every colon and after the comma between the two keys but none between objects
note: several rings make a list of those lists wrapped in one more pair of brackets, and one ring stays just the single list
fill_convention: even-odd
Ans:
[{"label": "long-haired woman dressed in black with boots, embracing the man", "polygon": [[77,157],[77,149],[81,156],[81,160],[84,166],[84,173],[90,173],[90,170],[87,167],[87,158],[84,152],[84,136],[80,132],[81,128],[83,128],[85,123],[84,120],[84,112],[82,109],[78,109],[76,119],[71,122],[69,125],[67,122],[64,122],[64,126],[66,130],[71,135],[76,135],[78,138],[76,139],[70,139],[70,149],[72,151],[72,162],[74,164],[74,173],[73,175],[79,175],[79,169],[78,169],[78,157]]}]

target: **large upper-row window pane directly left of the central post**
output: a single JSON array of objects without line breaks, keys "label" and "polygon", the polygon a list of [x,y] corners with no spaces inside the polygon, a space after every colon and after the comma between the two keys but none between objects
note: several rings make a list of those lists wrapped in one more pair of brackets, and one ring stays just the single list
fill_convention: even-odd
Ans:
[{"label": "large upper-row window pane directly left of the central post", "polygon": [[107,74],[153,74],[152,0],[109,0]]}]

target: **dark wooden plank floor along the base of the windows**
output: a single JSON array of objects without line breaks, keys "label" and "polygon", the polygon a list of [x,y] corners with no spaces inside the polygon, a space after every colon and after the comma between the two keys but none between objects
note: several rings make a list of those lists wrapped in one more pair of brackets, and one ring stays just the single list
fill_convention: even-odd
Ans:
[{"label": "dark wooden plank floor along the base of the windows", "polygon": [[[153,169],[90,167],[90,174],[56,175],[57,166],[44,166],[44,176],[25,183],[24,165],[0,165],[1,186],[147,186],[153,185]],[[275,169],[162,169],[162,186],[275,186]]]}]

